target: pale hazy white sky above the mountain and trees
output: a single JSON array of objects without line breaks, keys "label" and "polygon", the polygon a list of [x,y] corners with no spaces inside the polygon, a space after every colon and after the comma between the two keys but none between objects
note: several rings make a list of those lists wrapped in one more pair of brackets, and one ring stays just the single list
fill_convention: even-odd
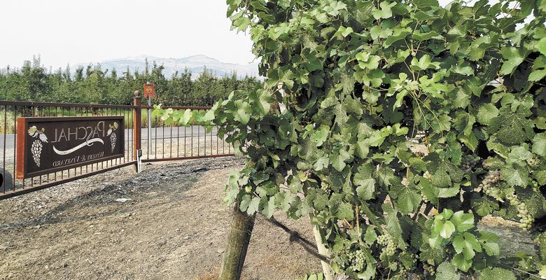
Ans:
[{"label": "pale hazy white sky above the mountain and trees", "polygon": [[137,55],[251,62],[251,40],[230,31],[226,9],[225,0],[0,0],[0,69],[38,54],[53,68]]}]

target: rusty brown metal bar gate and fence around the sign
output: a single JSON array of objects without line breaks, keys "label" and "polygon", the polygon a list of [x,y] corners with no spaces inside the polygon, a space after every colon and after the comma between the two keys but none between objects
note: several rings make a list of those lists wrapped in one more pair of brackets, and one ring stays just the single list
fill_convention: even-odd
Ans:
[{"label": "rusty brown metal bar gate and fence around the sign", "polygon": [[[209,107],[170,106],[172,109],[207,110]],[[142,162],[188,160],[230,156],[232,148],[218,138],[217,127],[194,123],[189,127],[165,125],[160,118],[148,122],[148,111],[141,97],[134,97],[133,105],[69,104],[46,102],[0,101],[0,200],[30,193],[62,183],[101,174],[121,167],[137,167],[140,152]],[[64,169],[50,174],[16,179],[17,119],[20,117],[79,117],[123,116],[125,120],[125,155],[81,167]],[[151,123],[151,125],[148,125]],[[24,129],[24,128],[21,128]]]}]

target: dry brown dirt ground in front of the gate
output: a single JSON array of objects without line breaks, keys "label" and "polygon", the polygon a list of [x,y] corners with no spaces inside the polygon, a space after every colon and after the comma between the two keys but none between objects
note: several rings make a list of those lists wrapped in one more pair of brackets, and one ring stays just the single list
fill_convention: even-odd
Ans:
[{"label": "dry brown dirt ground in front of the gate", "polygon": [[[234,158],[131,167],[0,201],[0,279],[215,279]],[[314,241],[309,220],[276,219]],[[244,279],[295,279],[320,262],[258,216]]]}]

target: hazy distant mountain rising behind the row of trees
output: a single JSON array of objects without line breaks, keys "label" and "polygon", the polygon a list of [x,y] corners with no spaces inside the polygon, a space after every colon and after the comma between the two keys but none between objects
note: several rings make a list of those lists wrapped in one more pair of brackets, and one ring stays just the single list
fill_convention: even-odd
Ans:
[{"label": "hazy distant mountain rising behind the row of trees", "polygon": [[[152,57],[148,55],[141,55],[138,57],[126,57],[120,59],[111,59],[104,62],[100,62],[101,68],[106,69],[116,69],[118,73],[124,72],[129,67],[131,72],[139,71],[142,72],[146,68],[146,57],[148,58],[149,69],[152,68],[153,62],[159,65],[165,66],[163,73],[166,78],[171,78],[171,76],[179,71],[183,73],[184,69],[188,70],[193,74],[193,78],[197,78],[200,73],[203,72],[203,69],[211,70],[212,73],[216,76],[225,76],[231,75],[234,71],[237,73],[239,78],[244,76],[253,76],[258,77],[258,64],[233,64],[221,62],[218,59],[212,57],[207,57],[206,55],[193,55],[190,57],[183,58],[163,58],[163,57]],[[81,66],[86,66],[85,64],[80,64]],[[76,65],[76,66],[80,66]]]}]

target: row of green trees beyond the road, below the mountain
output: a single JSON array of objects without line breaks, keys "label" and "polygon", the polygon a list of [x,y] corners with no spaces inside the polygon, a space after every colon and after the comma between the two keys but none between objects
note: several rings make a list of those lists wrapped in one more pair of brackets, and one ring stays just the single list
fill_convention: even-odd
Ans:
[{"label": "row of green trees beyond the road, below the mountain", "polygon": [[21,69],[0,71],[0,99],[32,102],[132,104],[134,90],[144,83],[155,85],[155,103],[173,106],[211,106],[233,90],[261,87],[255,77],[237,78],[237,73],[217,77],[210,69],[193,78],[188,69],[165,77],[165,67],[146,59],[143,71],[102,69],[100,64],[65,69],[45,69],[39,57],[25,61]]}]

